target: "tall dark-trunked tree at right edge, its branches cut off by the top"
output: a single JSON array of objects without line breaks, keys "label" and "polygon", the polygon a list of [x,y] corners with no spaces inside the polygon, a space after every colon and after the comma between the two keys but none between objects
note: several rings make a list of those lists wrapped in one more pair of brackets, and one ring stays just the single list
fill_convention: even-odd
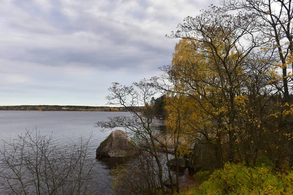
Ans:
[{"label": "tall dark-trunked tree at right edge, its branches cut off by the top", "polygon": [[[279,91],[283,94],[285,108],[284,123],[289,139],[289,166],[293,169],[293,139],[290,120],[292,112],[290,105],[292,85],[290,69],[293,69],[293,9],[291,0],[224,0],[223,6],[228,10],[240,10],[254,18],[258,34],[264,37],[264,50],[270,50],[278,59],[272,64],[281,70],[282,86]],[[274,81],[274,80],[273,80]]]}]

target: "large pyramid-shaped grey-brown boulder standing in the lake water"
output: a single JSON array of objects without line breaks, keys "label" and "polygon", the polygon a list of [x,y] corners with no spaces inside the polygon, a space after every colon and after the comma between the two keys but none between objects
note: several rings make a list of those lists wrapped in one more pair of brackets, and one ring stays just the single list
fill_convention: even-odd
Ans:
[{"label": "large pyramid-shaped grey-brown boulder standing in the lake water", "polygon": [[127,134],[122,130],[112,131],[111,134],[97,148],[97,158],[107,157],[126,157],[137,154],[134,144]]}]

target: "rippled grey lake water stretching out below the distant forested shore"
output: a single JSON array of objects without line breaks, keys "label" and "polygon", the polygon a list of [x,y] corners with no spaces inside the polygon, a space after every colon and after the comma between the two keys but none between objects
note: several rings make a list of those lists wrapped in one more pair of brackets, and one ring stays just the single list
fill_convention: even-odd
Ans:
[{"label": "rippled grey lake water stretching out below the distant forested shore", "polygon": [[[131,116],[129,112],[74,112],[74,111],[0,111],[0,147],[4,141],[16,138],[27,130],[37,128],[41,135],[52,135],[52,140],[59,146],[77,142],[80,137],[90,136],[89,158],[96,160],[96,149],[110,134],[95,127],[98,121],[106,121],[108,117]],[[119,128],[117,128],[119,129]],[[100,176],[106,185],[110,184],[113,161],[99,161]],[[181,179],[185,182],[186,177]],[[108,182],[108,183],[107,183]],[[111,188],[104,194],[111,194]]]}]

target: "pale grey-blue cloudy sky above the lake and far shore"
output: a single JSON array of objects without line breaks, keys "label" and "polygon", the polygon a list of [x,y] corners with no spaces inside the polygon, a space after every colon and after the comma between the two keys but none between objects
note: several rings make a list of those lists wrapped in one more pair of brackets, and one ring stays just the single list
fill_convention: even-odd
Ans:
[{"label": "pale grey-blue cloudy sky above the lake and far shore", "polygon": [[162,74],[179,41],[165,35],[210,3],[0,0],[0,105],[104,106],[112,82]]}]

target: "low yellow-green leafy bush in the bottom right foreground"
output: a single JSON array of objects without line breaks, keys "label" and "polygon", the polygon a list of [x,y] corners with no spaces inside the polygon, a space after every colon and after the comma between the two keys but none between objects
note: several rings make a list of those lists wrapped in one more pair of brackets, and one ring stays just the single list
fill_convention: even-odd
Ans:
[{"label": "low yellow-green leafy bush in the bottom right foreground", "polygon": [[273,172],[268,167],[250,168],[227,163],[214,171],[199,190],[187,195],[293,195],[293,173]]}]

